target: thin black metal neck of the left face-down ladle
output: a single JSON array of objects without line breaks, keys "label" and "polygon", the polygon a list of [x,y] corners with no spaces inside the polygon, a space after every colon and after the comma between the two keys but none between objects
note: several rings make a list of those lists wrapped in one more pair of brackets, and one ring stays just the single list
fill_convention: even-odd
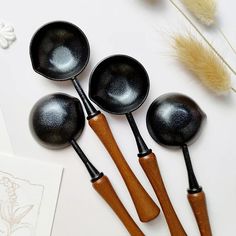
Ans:
[{"label": "thin black metal neck of the left face-down ladle", "polygon": [[77,144],[77,142],[72,139],[70,141],[72,147],[74,150],[77,152],[79,155],[80,159],[83,161],[84,165],[86,166],[90,176],[91,176],[91,181],[95,182],[96,180],[100,179],[103,176],[103,173],[99,172],[94,165],[89,161],[89,159],[86,157],[80,146]]}]

